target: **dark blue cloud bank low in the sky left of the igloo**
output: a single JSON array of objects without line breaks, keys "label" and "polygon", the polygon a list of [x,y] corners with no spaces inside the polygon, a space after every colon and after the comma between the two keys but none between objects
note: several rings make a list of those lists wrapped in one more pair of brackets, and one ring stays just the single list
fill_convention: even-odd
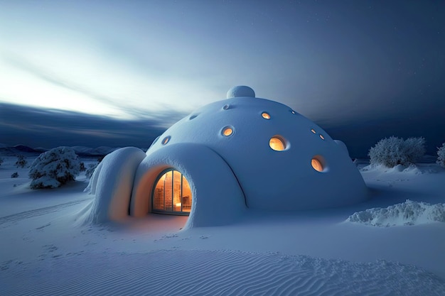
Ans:
[{"label": "dark blue cloud bank low in the sky left of the igloo", "polygon": [[[154,116],[154,114],[151,114]],[[73,111],[38,109],[0,103],[0,143],[32,147],[136,146],[148,148],[166,130],[166,121],[185,114],[169,112],[156,118],[118,120]]]}]

